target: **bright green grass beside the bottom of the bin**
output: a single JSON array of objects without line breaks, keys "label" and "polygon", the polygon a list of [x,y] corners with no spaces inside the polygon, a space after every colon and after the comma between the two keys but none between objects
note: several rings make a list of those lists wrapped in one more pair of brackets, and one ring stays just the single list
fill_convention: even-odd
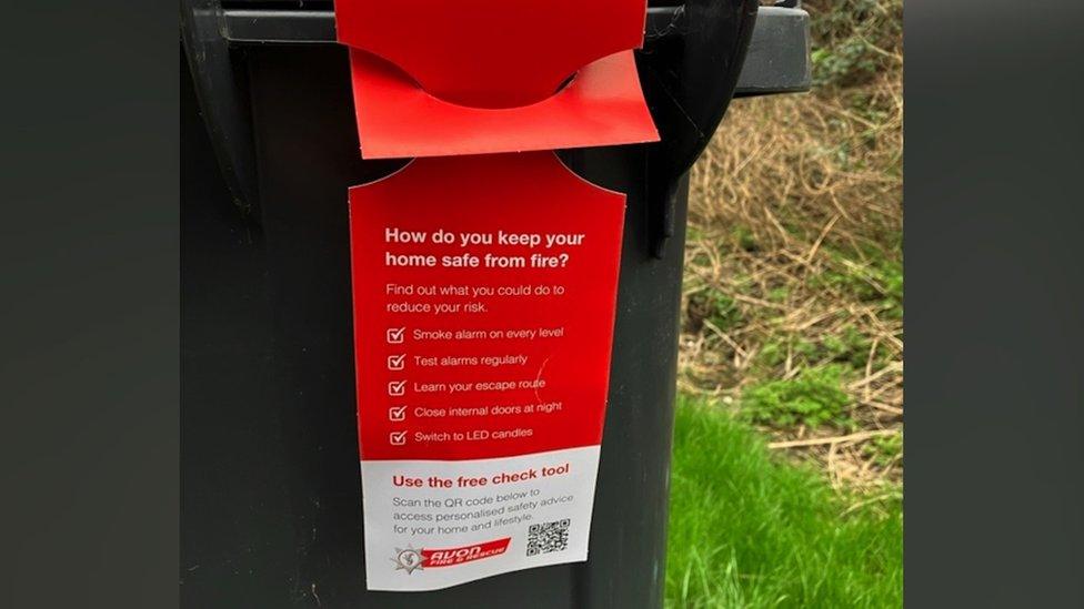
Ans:
[{"label": "bright green grass beside the bottom of the bin", "polygon": [[850,497],[707,402],[679,400],[670,608],[902,607],[899,494]]}]

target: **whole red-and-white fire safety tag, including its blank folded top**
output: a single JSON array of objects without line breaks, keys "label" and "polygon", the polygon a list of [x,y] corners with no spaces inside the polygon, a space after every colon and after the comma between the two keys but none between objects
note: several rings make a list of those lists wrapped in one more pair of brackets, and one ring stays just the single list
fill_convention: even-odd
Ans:
[{"label": "whole red-and-white fire safety tag, including its blank folded top", "polygon": [[[339,0],[367,586],[586,560],[624,195],[552,152],[656,141],[645,0]],[[501,153],[501,154],[492,154]]]}]

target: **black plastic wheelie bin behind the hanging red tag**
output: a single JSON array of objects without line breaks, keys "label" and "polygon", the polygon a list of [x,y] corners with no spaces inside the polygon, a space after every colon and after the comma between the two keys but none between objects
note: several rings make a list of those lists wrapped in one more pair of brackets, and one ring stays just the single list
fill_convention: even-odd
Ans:
[{"label": "black plastic wheelie bin behind the hanging red tag", "polygon": [[345,49],[231,42],[251,32],[208,7],[182,65],[182,606],[661,606],[686,171],[756,2],[653,9],[638,62],[663,142],[561,152],[628,195],[590,559],[398,593],[365,590],[347,189],[402,162],[360,159]]}]

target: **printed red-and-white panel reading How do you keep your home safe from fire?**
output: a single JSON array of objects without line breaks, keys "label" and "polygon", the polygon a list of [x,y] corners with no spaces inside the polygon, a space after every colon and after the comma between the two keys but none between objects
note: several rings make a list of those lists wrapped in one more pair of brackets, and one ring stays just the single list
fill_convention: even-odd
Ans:
[{"label": "printed red-and-white panel reading How do you keep your home safe from fire?", "polygon": [[[351,189],[370,589],[586,558],[623,219],[551,152]],[[464,560],[425,570],[428,548]]]}]

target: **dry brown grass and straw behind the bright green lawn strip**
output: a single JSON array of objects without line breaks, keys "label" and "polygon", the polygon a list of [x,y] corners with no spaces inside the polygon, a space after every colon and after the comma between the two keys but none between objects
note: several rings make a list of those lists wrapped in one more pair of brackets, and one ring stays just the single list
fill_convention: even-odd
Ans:
[{"label": "dry brown grass and straw behind the bright green lawn strip", "polygon": [[750,386],[846,368],[846,424],[760,423],[881,488],[902,476],[902,3],[805,6],[814,91],[735,100],[692,173],[680,383],[741,410]]}]

